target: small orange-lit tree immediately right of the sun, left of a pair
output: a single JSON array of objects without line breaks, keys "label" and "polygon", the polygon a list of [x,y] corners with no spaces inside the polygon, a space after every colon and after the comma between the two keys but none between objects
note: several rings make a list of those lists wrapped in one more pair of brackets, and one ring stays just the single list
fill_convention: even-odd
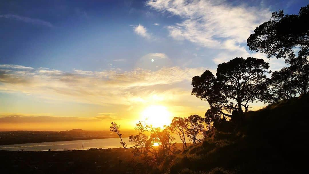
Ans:
[{"label": "small orange-lit tree immediately right of the sun, left of a pair", "polygon": [[167,127],[171,132],[176,133],[180,140],[182,141],[183,148],[187,147],[186,139],[185,139],[185,130],[187,128],[187,123],[181,117],[174,117],[170,126]]}]

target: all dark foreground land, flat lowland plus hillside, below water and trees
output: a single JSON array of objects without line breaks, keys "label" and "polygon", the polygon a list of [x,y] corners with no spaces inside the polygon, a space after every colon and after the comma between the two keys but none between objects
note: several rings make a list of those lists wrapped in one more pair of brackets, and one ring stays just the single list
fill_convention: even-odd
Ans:
[{"label": "all dark foreground land, flat lowland plus hillside, below water and trees", "polygon": [[201,143],[166,156],[159,165],[134,157],[132,148],[0,150],[0,169],[4,173],[307,173],[308,105],[309,94],[303,94],[245,112],[243,124],[235,130],[213,130]]}]

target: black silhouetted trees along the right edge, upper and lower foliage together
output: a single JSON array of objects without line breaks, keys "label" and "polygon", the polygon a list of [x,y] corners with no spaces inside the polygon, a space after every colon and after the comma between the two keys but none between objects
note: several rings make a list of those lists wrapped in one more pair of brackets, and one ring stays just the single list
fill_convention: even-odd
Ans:
[{"label": "black silhouetted trees along the right edge, upper and lower foliage together", "polygon": [[[269,89],[273,95],[269,102],[297,97],[309,92],[309,5],[298,15],[274,12],[272,19],[258,26],[247,39],[252,51],[266,53],[268,58],[287,58],[290,67],[273,72]],[[299,47],[298,56],[293,48]]]}]

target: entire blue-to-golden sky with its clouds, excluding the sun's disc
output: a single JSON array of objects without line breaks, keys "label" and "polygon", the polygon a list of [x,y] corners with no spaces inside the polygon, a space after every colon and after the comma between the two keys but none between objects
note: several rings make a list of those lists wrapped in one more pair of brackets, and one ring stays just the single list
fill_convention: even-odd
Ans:
[{"label": "entire blue-to-golden sky with its clouds, excluding the sun's disc", "polygon": [[[151,106],[204,116],[193,76],[252,56],[246,39],[273,11],[306,0],[0,2],[0,131],[131,129]],[[254,109],[263,103],[252,103]]]}]

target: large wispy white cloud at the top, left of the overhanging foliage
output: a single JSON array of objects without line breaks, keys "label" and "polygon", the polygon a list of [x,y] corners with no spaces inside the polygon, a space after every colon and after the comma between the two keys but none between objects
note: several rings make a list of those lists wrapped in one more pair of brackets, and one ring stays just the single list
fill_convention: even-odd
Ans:
[{"label": "large wispy white cloud at the top, left of the overhanging foliage", "polygon": [[268,9],[231,6],[226,1],[149,0],[146,4],[184,19],[167,26],[172,38],[208,48],[235,49],[225,42],[233,40],[234,46],[246,42],[256,26],[271,16]]}]

